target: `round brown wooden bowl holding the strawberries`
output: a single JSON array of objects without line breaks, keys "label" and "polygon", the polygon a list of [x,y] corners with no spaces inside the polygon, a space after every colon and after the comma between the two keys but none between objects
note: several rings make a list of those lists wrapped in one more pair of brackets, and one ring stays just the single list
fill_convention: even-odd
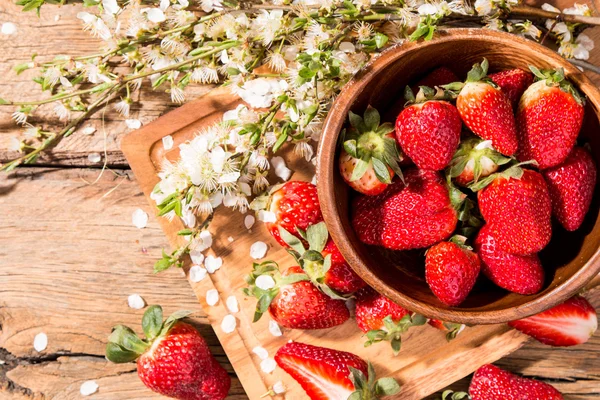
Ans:
[{"label": "round brown wooden bowl holding the strawberries", "polygon": [[546,270],[544,289],[523,296],[480,279],[460,307],[441,303],[425,282],[424,252],[390,251],[360,242],[349,219],[349,201],[355,193],[338,172],[338,136],[348,111],[363,113],[367,105],[394,122],[402,109],[404,87],[432,69],[448,66],[465,77],[486,57],[490,70],[508,68],[564,68],[568,79],[587,96],[580,138],[590,144],[600,161],[600,91],[577,68],[553,51],[517,36],[482,29],[451,29],[429,42],[406,43],[384,51],[344,87],[325,121],[318,155],[318,191],[331,235],[352,268],[373,288],[394,302],[429,318],[466,324],[512,321],[542,312],[578,293],[600,271],[598,189],[583,226],[566,232],[553,225],[550,244],[540,253]]}]

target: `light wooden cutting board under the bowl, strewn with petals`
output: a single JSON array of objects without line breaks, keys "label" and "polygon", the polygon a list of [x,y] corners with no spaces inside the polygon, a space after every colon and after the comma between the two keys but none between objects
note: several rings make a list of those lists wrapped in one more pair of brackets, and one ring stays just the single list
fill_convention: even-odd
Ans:
[{"label": "light wooden cutting board under the bowl, strewn with petals", "polygon": [[[177,159],[179,144],[191,139],[202,127],[219,121],[225,111],[235,108],[240,102],[228,89],[216,89],[123,138],[122,150],[150,204],[155,206],[150,193],[159,181],[157,172],[163,158]],[[167,135],[171,135],[175,142],[173,149],[169,151],[165,151],[162,145],[162,138]],[[292,179],[312,179],[314,168],[310,163],[291,152],[284,153],[283,156],[288,167],[294,171]],[[176,233],[184,228],[181,221],[177,218],[172,222],[165,218],[159,220],[170,243],[179,246],[182,238]],[[244,216],[237,211],[219,208],[209,230],[213,234],[213,246],[207,254],[214,253],[222,257],[223,266],[204,280],[190,283],[252,400],[258,400],[278,380],[282,380],[288,389],[286,399],[307,398],[300,386],[282,370],[277,369],[272,374],[262,372],[261,360],[252,353],[252,349],[259,345],[268,350],[270,357],[288,340],[353,352],[370,360],[379,377],[393,376],[400,382],[402,391],[394,398],[412,400],[421,399],[450,385],[480,365],[494,362],[518,349],[527,341],[525,335],[506,325],[488,325],[466,328],[455,340],[447,342],[443,332],[425,325],[411,328],[404,335],[402,351],[394,357],[387,343],[365,348],[365,339],[353,319],[333,329],[284,329],[283,336],[274,337],[268,330],[268,314],[259,322],[252,323],[256,301],[246,298],[241,291],[245,286],[244,276],[252,266],[250,246],[258,240],[267,243],[269,250],[265,260],[274,260],[281,267],[291,266],[293,258],[271,238],[262,222],[257,221],[251,230],[247,230]],[[184,265],[186,275],[190,266],[191,260],[188,258]],[[219,291],[220,301],[216,306],[210,307],[206,304],[205,295],[213,288]],[[595,297],[598,297],[598,292],[594,293]],[[231,295],[238,299],[240,312],[234,314],[237,319],[236,331],[226,334],[220,325],[223,317],[229,313],[225,300]]]}]

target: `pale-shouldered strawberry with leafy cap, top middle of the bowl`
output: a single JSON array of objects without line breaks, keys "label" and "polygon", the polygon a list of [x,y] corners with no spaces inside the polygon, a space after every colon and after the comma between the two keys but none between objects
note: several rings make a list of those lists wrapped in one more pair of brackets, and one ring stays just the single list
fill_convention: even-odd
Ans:
[{"label": "pale-shouldered strawberry with leafy cap, top middle of the bowl", "polygon": [[517,130],[510,100],[497,85],[486,76],[487,59],[473,65],[463,83],[451,83],[444,87],[460,90],[456,108],[465,123],[477,136],[491,140],[494,148],[510,156],[517,151]]}]

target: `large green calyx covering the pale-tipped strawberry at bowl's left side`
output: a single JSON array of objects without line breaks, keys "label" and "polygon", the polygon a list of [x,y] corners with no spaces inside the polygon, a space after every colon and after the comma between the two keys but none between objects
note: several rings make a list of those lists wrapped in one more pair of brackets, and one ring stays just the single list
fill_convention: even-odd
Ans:
[{"label": "large green calyx covering the pale-tipped strawberry at bowl's left side", "polygon": [[362,178],[370,165],[380,182],[392,183],[388,167],[402,177],[398,165],[400,153],[396,140],[390,135],[394,131],[394,125],[389,122],[380,124],[379,112],[371,106],[365,110],[364,117],[352,111],[348,117],[352,128],[347,131],[342,144],[344,150],[358,160],[350,181]]}]

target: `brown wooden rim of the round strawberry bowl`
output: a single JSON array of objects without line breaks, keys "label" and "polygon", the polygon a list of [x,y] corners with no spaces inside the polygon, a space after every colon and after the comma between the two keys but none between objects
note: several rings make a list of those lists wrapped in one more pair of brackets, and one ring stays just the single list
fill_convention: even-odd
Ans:
[{"label": "brown wooden rim of the round strawberry bowl", "polygon": [[[386,49],[378,57],[372,59],[349,84],[344,86],[327,115],[319,143],[317,155],[317,188],[319,202],[321,204],[324,220],[342,255],[346,258],[352,269],[381,294],[387,296],[400,306],[423,314],[429,318],[464,324],[503,323],[540,313],[577,294],[600,272],[600,249],[596,249],[596,252],[592,257],[590,257],[579,271],[573,274],[569,279],[540,297],[525,302],[520,306],[490,311],[440,308],[398,292],[397,290],[390,288],[382,279],[376,276],[370,270],[369,266],[366,263],[363,263],[344,234],[341,216],[337,213],[335,203],[334,162],[337,141],[339,133],[345,123],[345,116],[348,114],[356,96],[364,89],[380,68],[387,67],[408,52],[418,51],[419,49],[434,43],[451,42],[457,39],[484,39],[497,42],[499,46],[505,46],[507,43],[510,43],[511,46],[529,47],[530,50],[539,53],[541,57],[546,57],[557,65],[562,66],[565,69],[567,77],[585,93],[587,100],[592,103],[596,115],[598,115],[598,110],[600,109],[600,91],[598,88],[575,66],[552,50],[533,41],[503,32],[486,31],[479,28],[441,30],[436,33],[436,37],[429,42],[403,43]],[[340,118],[340,116],[344,117]]]}]

